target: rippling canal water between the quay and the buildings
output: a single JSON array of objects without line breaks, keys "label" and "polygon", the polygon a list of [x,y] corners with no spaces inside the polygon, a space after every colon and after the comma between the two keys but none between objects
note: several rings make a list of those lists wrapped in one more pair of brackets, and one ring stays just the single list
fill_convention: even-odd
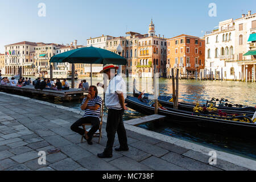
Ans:
[{"label": "rippling canal water between the quay and the buildings", "polygon": [[[84,79],[84,78],[83,78]],[[86,77],[89,82],[90,78]],[[133,94],[133,78],[124,78],[127,83],[127,94]],[[136,87],[138,90],[145,90],[146,93],[153,94],[151,78],[137,78]],[[71,81],[68,81],[71,85]],[[75,87],[78,88],[81,79],[75,81]],[[102,78],[94,77],[92,84],[103,82]],[[99,96],[103,95],[103,89],[98,89]],[[164,78],[159,79],[159,93],[165,95],[172,94],[172,81]],[[233,82],[233,81],[197,81],[197,80],[180,80],[179,81],[179,102],[200,103],[206,104],[207,101],[215,98],[225,98],[234,104],[241,104],[247,106],[256,105],[256,83],[251,82]],[[33,97],[36,98],[36,97]],[[39,100],[46,100],[46,98],[37,98]],[[49,102],[55,104],[68,106],[79,109],[81,101],[61,101],[55,99]],[[104,110],[106,114],[106,109]],[[154,114],[154,113],[152,113]],[[144,114],[138,113],[135,110],[128,109],[123,115],[124,120],[143,117]],[[256,142],[255,140],[244,139],[240,133],[225,134],[216,133],[215,131],[192,128],[182,125],[177,125],[171,121],[162,121],[158,123],[146,123],[139,125],[147,130],[155,131],[167,136],[188,140],[201,144],[205,147],[214,148],[216,150],[229,152],[232,154],[244,156],[256,160]]]}]

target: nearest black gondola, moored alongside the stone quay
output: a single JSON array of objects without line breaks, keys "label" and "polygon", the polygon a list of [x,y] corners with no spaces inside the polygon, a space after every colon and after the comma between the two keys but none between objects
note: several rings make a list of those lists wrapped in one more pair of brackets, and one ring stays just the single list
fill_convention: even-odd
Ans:
[{"label": "nearest black gondola, moored alongside the stone quay", "polygon": [[[139,111],[143,114],[154,114],[155,107],[149,103],[152,100],[143,98],[139,100],[137,97],[127,96],[125,102],[127,107]],[[224,131],[233,131],[238,135],[246,135],[255,138],[256,123],[251,121],[253,114],[240,115],[236,117],[220,117],[218,115],[209,115],[203,113],[195,113],[186,110],[176,110],[170,107],[165,107],[167,110],[159,109],[158,114],[166,115],[172,122],[184,123],[185,125],[196,125],[201,127],[207,127],[209,129],[217,129]],[[248,122],[233,121],[232,119],[247,119]]]}]

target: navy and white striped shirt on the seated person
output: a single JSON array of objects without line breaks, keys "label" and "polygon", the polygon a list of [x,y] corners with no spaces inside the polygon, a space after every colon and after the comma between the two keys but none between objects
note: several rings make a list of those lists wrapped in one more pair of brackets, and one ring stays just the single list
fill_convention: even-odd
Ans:
[{"label": "navy and white striped shirt on the seated person", "polygon": [[[86,97],[84,98],[84,100],[82,100],[82,105],[84,104],[85,101],[86,101]],[[100,107],[98,107],[97,110],[85,109],[84,115],[82,117],[84,118],[84,117],[90,116],[90,117],[100,118],[101,105],[102,105],[101,97],[97,96],[97,97],[93,98],[93,100],[89,100],[87,106],[95,106],[96,104],[100,106]]]}]

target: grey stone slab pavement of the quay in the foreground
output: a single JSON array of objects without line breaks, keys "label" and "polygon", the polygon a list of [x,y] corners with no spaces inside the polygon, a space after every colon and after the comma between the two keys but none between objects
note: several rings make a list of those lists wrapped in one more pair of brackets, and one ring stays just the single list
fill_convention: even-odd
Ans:
[{"label": "grey stone slab pavement of the quay in the foreground", "polygon": [[[97,153],[107,140],[105,123],[100,144],[94,138],[89,146],[70,130],[80,114],[1,92],[0,101],[0,170],[247,170],[221,159],[210,165],[208,155],[129,129],[130,150],[113,151],[113,158],[100,159]],[[114,146],[118,145],[116,135]],[[54,148],[61,151],[48,154]],[[45,165],[38,164],[39,151],[46,152]]]}]

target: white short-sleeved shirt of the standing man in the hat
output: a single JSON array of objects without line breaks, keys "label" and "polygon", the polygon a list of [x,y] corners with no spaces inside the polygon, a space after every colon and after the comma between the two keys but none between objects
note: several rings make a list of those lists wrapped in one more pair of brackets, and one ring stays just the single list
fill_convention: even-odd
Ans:
[{"label": "white short-sleeved shirt of the standing man in the hat", "polygon": [[117,92],[122,92],[126,99],[126,84],[122,76],[117,75],[109,81],[109,86],[105,93],[105,105],[109,109],[122,109]]}]

